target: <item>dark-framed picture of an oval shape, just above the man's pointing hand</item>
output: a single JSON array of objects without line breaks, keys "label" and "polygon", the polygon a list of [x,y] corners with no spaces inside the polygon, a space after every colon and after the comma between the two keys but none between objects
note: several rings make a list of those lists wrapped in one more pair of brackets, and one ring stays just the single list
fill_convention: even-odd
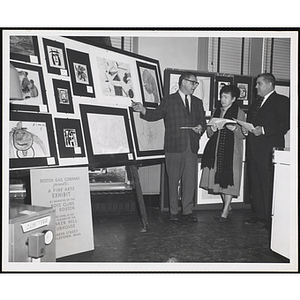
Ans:
[{"label": "dark-framed picture of an oval shape, just above the man's pointing hand", "polygon": [[144,106],[155,107],[162,98],[160,78],[156,65],[137,61],[137,69]]}]

